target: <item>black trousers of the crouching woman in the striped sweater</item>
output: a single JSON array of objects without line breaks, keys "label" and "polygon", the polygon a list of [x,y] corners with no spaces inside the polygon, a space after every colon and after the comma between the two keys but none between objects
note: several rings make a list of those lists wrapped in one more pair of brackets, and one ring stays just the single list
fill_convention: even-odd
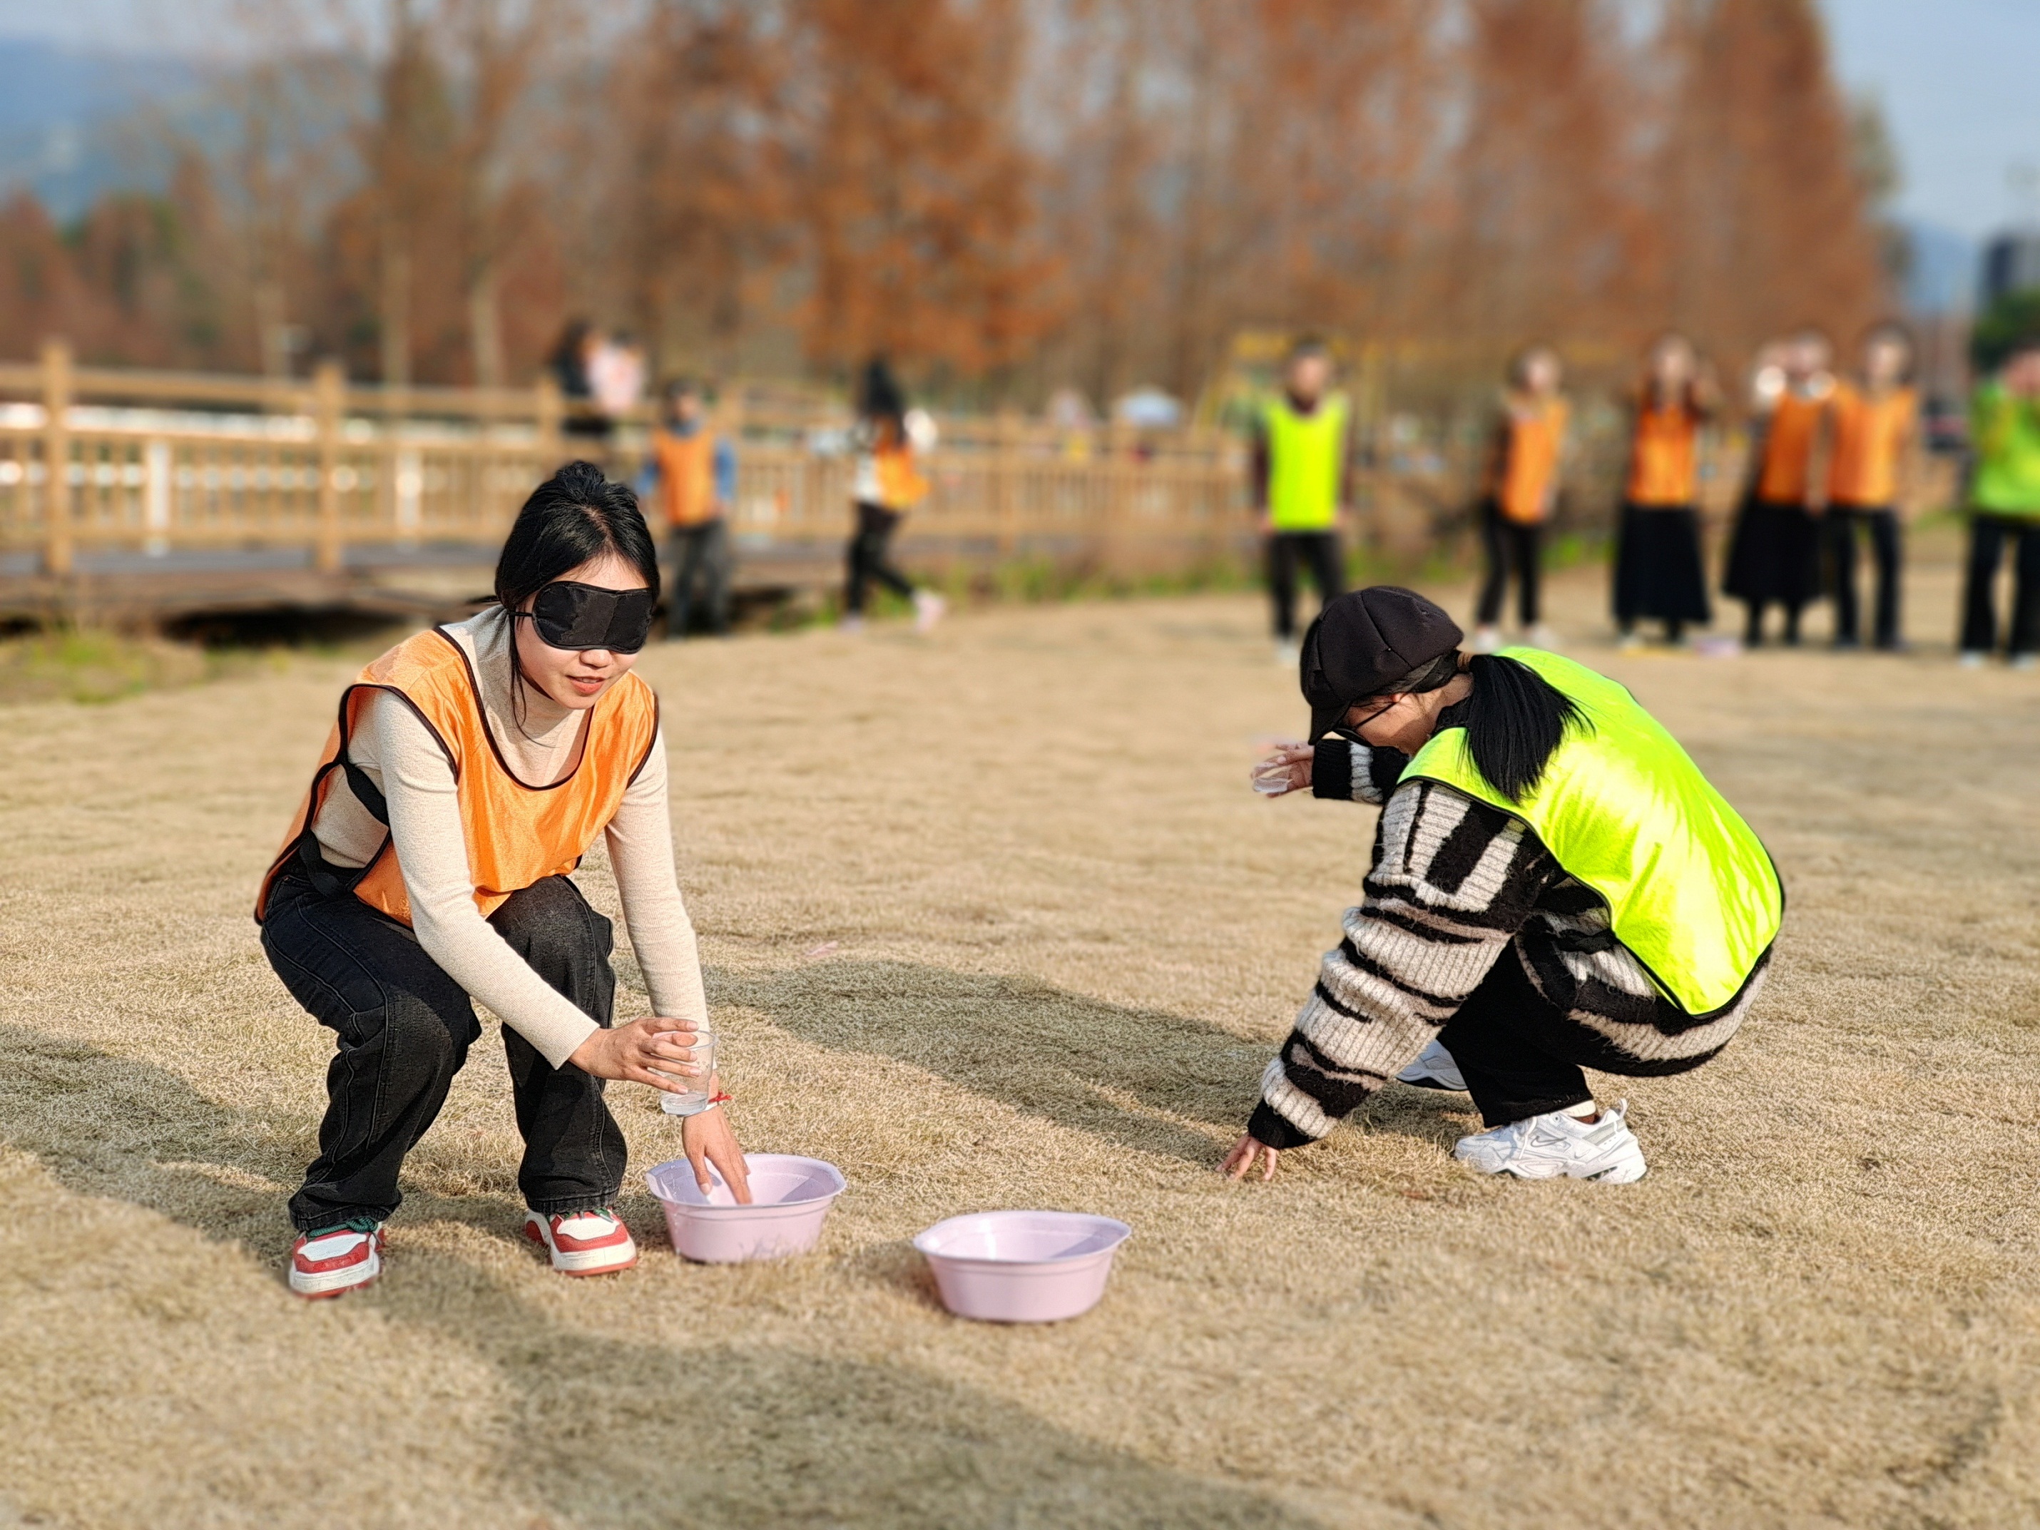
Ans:
[{"label": "black trousers of the crouching woman in the striped sweater", "polygon": [[1438,1042],[1459,1063],[1487,1126],[1593,1100],[1581,1063],[1605,1067],[1608,1042],[1536,991],[1512,940]]}]

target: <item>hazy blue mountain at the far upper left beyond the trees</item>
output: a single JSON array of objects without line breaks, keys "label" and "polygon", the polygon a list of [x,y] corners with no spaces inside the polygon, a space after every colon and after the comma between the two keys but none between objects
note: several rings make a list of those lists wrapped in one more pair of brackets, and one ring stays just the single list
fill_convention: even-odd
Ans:
[{"label": "hazy blue mountain at the far upper left beyond the trees", "polygon": [[204,84],[200,67],[171,55],[0,37],[0,196],[31,190],[61,220],[112,188],[159,182],[163,165],[122,129],[145,108],[175,112]]}]

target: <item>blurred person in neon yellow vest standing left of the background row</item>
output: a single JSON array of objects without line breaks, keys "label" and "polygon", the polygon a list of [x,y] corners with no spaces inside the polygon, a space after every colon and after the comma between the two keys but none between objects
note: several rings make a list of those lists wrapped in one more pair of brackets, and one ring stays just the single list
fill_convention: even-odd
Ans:
[{"label": "blurred person in neon yellow vest standing left of the background row", "polygon": [[1275,661],[1291,665],[1297,565],[1320,606],[1346,588],[1338,516],[1353,506],[1353,404],[1332,390],[1332,355],[1316,337],[1289,347],[1283,390],[1255,418],[1248,488],[1267,539]]}]

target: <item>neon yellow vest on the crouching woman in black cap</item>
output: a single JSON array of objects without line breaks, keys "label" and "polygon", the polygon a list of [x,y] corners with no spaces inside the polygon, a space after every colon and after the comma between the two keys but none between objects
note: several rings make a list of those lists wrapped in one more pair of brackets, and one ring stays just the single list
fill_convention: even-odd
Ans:
[{"label": "neon yellow vest on the crouching woman in black cap", "polygon": [[1763,840],[1626,687],[1540,649],[1503,649],[1589,728],[1567,728],[1530,796],[1503,798],[1465,728],[1432,734],[1401,779],[1442,781],[1522,818],[1608,904],[1616,938],[1689,1016],[1734,1004],[1777,938],[1785,889]]}]

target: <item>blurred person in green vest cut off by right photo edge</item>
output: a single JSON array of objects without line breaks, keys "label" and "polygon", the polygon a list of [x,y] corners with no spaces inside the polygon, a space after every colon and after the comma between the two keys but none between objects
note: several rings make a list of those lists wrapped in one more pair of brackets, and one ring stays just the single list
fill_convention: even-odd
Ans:
[{"label": "blurred person in green vest cut off by right photo edge", "polygon": [[1962,581],[1962,663],[1981,665],[1997,649],[1991,585],[2013,551],[2013,669],[2040,659],[2040,333],[2013,341],[1977,386],[1969,408],[1969,575]]}]

